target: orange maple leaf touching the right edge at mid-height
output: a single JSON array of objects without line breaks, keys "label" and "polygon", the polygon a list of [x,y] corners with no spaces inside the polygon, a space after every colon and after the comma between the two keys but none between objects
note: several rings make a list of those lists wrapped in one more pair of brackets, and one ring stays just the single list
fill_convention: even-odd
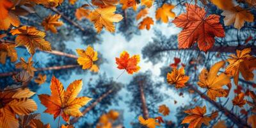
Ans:
[{"label": "orange maple leaf touching the right edge at mid-height", "polygon": [[231,54],[230,58],[227,59],[229,65],[227,66],[225,73],[228,76],[234,77],[234,83],[238,84],[239,73],[241,72],[242,76],[246,81],[253,80],[253,67],[256,67],[256,58],[255,56],[250,55],[251,48],[243,49],[242,51],[237,50],[236,54]]}]

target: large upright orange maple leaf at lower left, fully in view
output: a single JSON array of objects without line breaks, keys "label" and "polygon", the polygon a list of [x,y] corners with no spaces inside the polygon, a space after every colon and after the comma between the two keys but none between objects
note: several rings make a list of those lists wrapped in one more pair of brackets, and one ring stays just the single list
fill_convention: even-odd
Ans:
[{"label": "large upright orange maple leaf at lower left, fully in view", "polygon": [[92,100],[88,97],[77,97],[82,85],[82,80],[76,80],[69,84],[65,91],[63,84],[53,76],[50,86],[51,95],[38,95],[41,104],[47,108],[44,113],[54,115],[54,120],[57,116],[62,116],[65,122],[69,122],[70,116],[82,116],[83,114],[79,111],[79,108]]}]

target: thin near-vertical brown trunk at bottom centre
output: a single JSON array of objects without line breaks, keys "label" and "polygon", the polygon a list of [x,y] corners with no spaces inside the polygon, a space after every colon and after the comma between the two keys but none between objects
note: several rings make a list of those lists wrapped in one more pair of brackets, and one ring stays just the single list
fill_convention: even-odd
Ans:
[{"label": "thin near-vertical brown trunk at bottom centre", "polygon": [[141,108],[143,111],[143,118],[148,118],[148,108],[147,108],[147,102],[146,102],[146,98],[145,98],[145,94],[144,94],[144,90],[143,90],[143,83],[142,81],[140,81],[139,83],[140,86],[140,99],[141,99]]}]

